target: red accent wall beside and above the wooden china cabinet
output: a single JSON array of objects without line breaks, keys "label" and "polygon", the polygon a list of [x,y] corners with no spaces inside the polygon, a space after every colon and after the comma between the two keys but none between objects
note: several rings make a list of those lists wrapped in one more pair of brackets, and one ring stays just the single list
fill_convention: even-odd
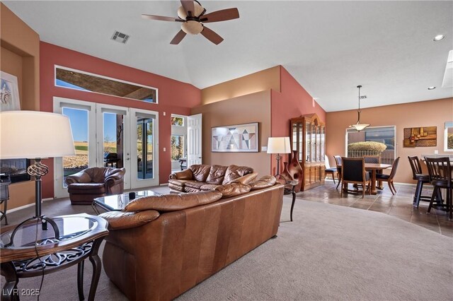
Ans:
[{"label": "red accent wall beside and above the wooden china cabinet", "polygon": [[[289,136],[289,119],[304,114],[316,113],[323,122],[326,122],[326,111],[282,66],[280,66],[280,92],[271,91],[270,112],[270,134],[273,137]],[[288,155],[282,156],[281,162],[285,161],[288,161]],[[276,166],[277,163],[273,159],[271,167],[273,173]],[[280,170],[282,170],[281,166]]]}]

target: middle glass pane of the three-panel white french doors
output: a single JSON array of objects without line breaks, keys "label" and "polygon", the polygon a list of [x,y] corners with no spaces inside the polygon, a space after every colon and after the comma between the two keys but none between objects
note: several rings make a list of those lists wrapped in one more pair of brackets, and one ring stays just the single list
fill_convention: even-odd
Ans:
[{"label": "middle glass pane of the three-panel white french doors", "polygon": [[104,165],[123,167],[124,139],[122,114],[103,113],[103,152]]}]

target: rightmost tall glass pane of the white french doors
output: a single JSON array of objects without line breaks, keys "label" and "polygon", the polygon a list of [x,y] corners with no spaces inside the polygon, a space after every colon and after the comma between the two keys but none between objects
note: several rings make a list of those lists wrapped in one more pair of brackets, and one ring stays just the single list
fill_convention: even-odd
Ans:
[{"label": "rightmost tall glass pane of the white french doors", "polygon": [[153,124],[151,118],[137,117],[137,179],[154,178]]}]

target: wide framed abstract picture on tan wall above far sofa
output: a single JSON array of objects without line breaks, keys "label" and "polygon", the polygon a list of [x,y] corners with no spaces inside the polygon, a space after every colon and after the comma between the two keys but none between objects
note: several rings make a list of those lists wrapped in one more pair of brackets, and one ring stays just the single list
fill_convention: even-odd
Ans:
[{"label": "wide framed abstract picture on tan wall above far sofa", "polygon": [[258,153],[258,122],[213,127],[211,144],[213,152]]}]

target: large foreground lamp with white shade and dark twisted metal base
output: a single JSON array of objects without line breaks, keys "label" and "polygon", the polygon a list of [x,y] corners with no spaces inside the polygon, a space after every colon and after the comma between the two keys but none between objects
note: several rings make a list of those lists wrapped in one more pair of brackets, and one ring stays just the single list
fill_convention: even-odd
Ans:
[{"label": "large foreground lamp with white shade and dark twisted metal base", "polygon": [[16,232],[30,220],[41,220],[42,230],[47,230],[47,223],[50,223],[55,238],[59,239],[55,222],[41,213],[41,177],[49,172],[49,167],[41,160],[76,154],[68,117],[48,112],[8,111],[0,113],[0,126],[1,159],[35,160],[35,164],[27,169],[28,175],[35,177],[35,216],[24,220],[13,230],[11,242],[5,247],[13,243]]}]

